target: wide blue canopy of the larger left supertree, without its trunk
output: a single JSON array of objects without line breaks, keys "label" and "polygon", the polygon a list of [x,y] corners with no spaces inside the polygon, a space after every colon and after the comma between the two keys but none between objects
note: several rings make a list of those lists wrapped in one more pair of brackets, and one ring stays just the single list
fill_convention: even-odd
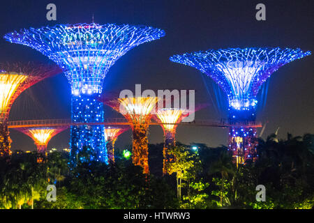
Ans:
[{"label": "wide blue canopy of the larger left supertree, without its trunk", "polygon": [[61,24],[7,33],[10,43],[27,45],[63,69],[72,93],[101,93],[110,67],[128,50],[165,36],[165,31],[128,24]]}]

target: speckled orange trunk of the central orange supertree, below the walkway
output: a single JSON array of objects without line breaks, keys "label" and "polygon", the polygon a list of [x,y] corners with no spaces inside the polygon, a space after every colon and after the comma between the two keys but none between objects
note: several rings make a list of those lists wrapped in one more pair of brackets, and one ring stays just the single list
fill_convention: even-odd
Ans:
[{"label": "speckled orange trunk of the central orange supertree, below the walkway", "polygon": [[148,164],[148,125],[133,126],[133,164],[143,167],[143,173],[149,174]]}]

